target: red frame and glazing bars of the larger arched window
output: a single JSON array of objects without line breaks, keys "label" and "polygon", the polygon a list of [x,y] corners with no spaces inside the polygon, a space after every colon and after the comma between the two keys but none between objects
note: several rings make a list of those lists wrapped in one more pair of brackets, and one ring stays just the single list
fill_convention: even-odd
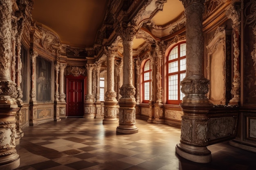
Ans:
[{"label": "red frame and glazing bars of the larger arched window", "polygon": [[[174,46],[171,47],[171,49],[168,51],[168,55],[166,56],[166,104],[174,104],[174,105],[179,105],[181,102],[182,102],[182,99],[180,99],[180,89],[181,89],[181,86],[180,86],[180,75],[182,73],[186,73],[186,69],[185,70],[182,70],[180,71],[180,61],[183,60],[183,59],[186,59],[186,55],[180,57],[180,45],[181,44],[186,44],[186,41],[182,41],[182,42],[178,42],[177,44],[175,44]],[[173,59],[173,60],[169,60],[169,55],[171,53],[171,51],[177,47],[177,55],[178,57]],[[178,67],[178,70],[173,72],[173,73],[169,73],[169,63],[171,62],[178,62],[177,63],[177,67]],[[177,75],[177,100],[173,100],[173,99],[169,99],[169,76],[171,75]]]}]

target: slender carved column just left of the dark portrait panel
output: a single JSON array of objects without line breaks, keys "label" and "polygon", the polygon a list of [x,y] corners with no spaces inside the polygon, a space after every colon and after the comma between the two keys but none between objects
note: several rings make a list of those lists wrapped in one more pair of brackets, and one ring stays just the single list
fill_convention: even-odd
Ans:
[{"label": "slender carved column just left of the dark portrait panel", "polygon": [[34,50],[31,50],[30,53],[30,94],[29,94],[29,125],[37,125],[36,121],[36,112],[38,103],[36,101],[36,57],[38,53]]}]

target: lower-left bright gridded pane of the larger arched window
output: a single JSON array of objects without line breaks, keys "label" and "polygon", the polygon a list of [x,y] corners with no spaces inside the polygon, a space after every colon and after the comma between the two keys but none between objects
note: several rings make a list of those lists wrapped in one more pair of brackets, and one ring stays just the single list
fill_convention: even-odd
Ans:
[{"label": "lower-left bright gridded pane of the larger arched window", "polygon": [[178,99],[178,75],[168,76],[168,99]]}]

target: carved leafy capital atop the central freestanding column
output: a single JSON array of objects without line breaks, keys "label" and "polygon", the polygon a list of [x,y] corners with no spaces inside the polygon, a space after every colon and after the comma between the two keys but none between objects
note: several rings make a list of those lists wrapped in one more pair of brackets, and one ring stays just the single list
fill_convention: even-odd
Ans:
[{"label": "carved leafy capital atop the central freestanding column", "polygon": [[132,41],[138,31],[137,26],[132,25],[130,22],[121,22],[117,29],[117,34],[123,41]]}]

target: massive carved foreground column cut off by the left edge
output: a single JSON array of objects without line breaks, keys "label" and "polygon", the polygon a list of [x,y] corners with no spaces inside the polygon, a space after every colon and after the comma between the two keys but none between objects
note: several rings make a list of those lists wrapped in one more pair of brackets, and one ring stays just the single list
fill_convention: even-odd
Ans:
[{"label": "massive carved foreground column cut off by the left edge", "polygon": [[20,165],[16,151],[16,83],[11,80],[12,0],[0,3],[0,169],[13,170]]}]

